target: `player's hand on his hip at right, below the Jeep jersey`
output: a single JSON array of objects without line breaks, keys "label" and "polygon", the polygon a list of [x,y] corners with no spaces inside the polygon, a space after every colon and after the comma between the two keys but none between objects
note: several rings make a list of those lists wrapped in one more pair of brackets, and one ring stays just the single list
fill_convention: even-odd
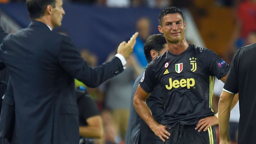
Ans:
[{"label": "player's hand on his hip at right, below the Jeep jersey", "polygon": [[195,130],[198,130],[198,132],[207,131],[209,127],[217,124],[219,124],[219,119],[216,116],[206,117],[198,121]]}]

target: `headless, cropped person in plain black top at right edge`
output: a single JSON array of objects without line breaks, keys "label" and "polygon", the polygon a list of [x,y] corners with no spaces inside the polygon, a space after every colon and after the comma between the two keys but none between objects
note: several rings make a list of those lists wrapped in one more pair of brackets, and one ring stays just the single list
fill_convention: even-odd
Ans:
[{"label": "headless, cropped person in plain black top at right edge", "polygon": [[256,136],[256,44],[236,51],[219,100],[220,144],[231,144],[228,122],[231,101],[239,93],[238,144],[255,144]]}]

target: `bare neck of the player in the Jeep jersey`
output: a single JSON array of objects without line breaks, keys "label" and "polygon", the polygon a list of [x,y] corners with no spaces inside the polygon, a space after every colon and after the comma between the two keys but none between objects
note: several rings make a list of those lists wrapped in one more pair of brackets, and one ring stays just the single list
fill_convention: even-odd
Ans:
[{"label": "bare neck of the player in the Jeep jersey", "polygon": [[189,46],[185,39],[181,40],[178,43],[169,43],[167,42],[169,52],[174,55],[179,55],[183,53]]}]

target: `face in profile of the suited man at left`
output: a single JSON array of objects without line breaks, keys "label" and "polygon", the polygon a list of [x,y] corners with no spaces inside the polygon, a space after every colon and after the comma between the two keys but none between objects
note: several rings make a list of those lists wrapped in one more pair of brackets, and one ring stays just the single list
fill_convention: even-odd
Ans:
[{"label": "face in profile of the suited man at left", "polygon": [[52,9],[52,26],[58,27],[61,26],[61,21],[63,15],[65,14],[64,9],[62,8],[62,0],[56,0],[55,8]]}]

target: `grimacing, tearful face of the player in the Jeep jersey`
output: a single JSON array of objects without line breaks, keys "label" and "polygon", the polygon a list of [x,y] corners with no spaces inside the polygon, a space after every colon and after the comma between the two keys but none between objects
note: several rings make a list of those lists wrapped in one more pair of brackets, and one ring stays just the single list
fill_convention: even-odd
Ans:
[{"label": "grimacing, tearful face of the player in the Jeep jersey", "polygon": [[162,18],[162,25],[158,26],[169,43],[178,43],[185,37],[186,22],[179,13],[167,14]]}]

